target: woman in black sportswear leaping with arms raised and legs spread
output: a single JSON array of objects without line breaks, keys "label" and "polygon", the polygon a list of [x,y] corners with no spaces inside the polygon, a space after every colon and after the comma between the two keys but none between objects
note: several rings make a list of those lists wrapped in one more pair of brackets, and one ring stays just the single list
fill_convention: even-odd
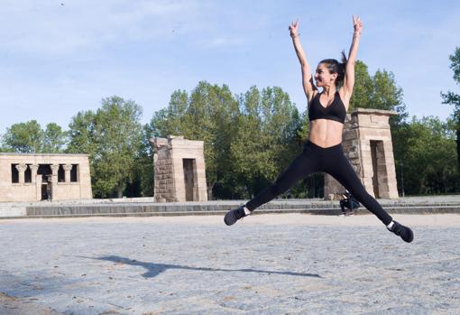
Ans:
[{"label": "woman in black sportswear leaping with arms raised and legs spread", "polygon": [[[377,216],[388,230],[400,236],[405,242],[412,242],[414,238],[412,230],[394,221],[377,200],[367,193],[342,148],[342,130],[354,87],[354,62],[363,30],[363,23],[359,17],[353,17],[353,23],[354,34],[348,60],[345,53],[342,53],[342,63],[334,59],[320,61],[315,73],[316,86],[300,44],[299,23],[290,24],[290,37],[300,61],[303,89],[308,99],[310,121],[308,142],[304,145],[303,152],[270,187],[262,190],[244,206],[230,210],[225,215],[224,221],[227,226],[250,215],[255,208],[290,189],[297,181],[306,178],[309,174],[325,171]],[[322,90],[318,91],[317,88]]]}]

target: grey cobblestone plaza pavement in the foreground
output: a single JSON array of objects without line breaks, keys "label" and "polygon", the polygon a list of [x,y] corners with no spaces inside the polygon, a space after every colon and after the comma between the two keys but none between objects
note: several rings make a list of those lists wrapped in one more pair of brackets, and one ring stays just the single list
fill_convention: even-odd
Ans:
[{"label": "grey cobblestone plaza pavement in the foreground", "polygon": [[459,314],[460,216],[0,221],[0,314]]}]

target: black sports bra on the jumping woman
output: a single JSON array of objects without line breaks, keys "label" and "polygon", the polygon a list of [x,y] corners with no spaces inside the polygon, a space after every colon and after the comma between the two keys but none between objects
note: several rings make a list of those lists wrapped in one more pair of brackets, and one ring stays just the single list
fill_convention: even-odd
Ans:
[{"label": "black sports bra on the jumping woman", "polygon": [[308,120],[328,119],[344,124],[346,110],[342,99],[340,99],[338,91],[336,91],[334,100],[328,107],[323,107],[321,103],[319,103],[320,95],[320,93],[317,93],[317,95],[311,100],[311,104],[308,107]]}]

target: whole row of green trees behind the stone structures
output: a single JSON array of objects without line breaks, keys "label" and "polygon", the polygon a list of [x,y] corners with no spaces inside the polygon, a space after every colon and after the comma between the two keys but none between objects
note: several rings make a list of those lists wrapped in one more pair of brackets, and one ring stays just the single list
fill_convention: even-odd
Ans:
[{"label": "whole row of green trees behind the stone structures", "polygon": [[[451,56],[455,81],[460,84],[460,49]],[[460,191],[460,96],[442,93],[454,115],[417,118],[403,103],[403,91],[394,74],[369,74],[358,60],[355,66],[355,107],[393,110],[391,134],[398,187],[405,195]],[[228,86],[206,81],[190,93],[176,90],[168,107],[142,125],[142,107],[133,100],[106,97],[96,111],[80,111],[68,130],[31,120],[11,125],[1,137],[2,152],[87,153],[95,198],[146,197],[153,194],[153,151],[149,140],[169,134],[204,140],[207,188],[210,199],[248,199],[267,186],[302,150],[308,139],[307,110],[300,113],[279,87],[253,86],[234,95]],[[321,197],[323,179],[313,175],[289,194]]]}]

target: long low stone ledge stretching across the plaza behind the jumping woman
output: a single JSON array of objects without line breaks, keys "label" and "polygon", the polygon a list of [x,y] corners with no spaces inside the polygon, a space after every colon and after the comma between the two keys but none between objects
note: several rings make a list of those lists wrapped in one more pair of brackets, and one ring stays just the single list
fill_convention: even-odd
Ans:
[{"label": "long low stone ledge stretching across the plaza behind the jumping woman", "polygon": [[[426,196],[400,199],[378,199],[390,213],[460,213],[460,196]],[[85,199],[1,203],[0,218],[59,218],[87,216],[180,216],[222,215],[244,200],[212,200],[158,203],[152,198]],[[323,199],[275,199],[255,213],[340,214],[338,201]],[[365,208],[357,214],[369,213]]]}]

